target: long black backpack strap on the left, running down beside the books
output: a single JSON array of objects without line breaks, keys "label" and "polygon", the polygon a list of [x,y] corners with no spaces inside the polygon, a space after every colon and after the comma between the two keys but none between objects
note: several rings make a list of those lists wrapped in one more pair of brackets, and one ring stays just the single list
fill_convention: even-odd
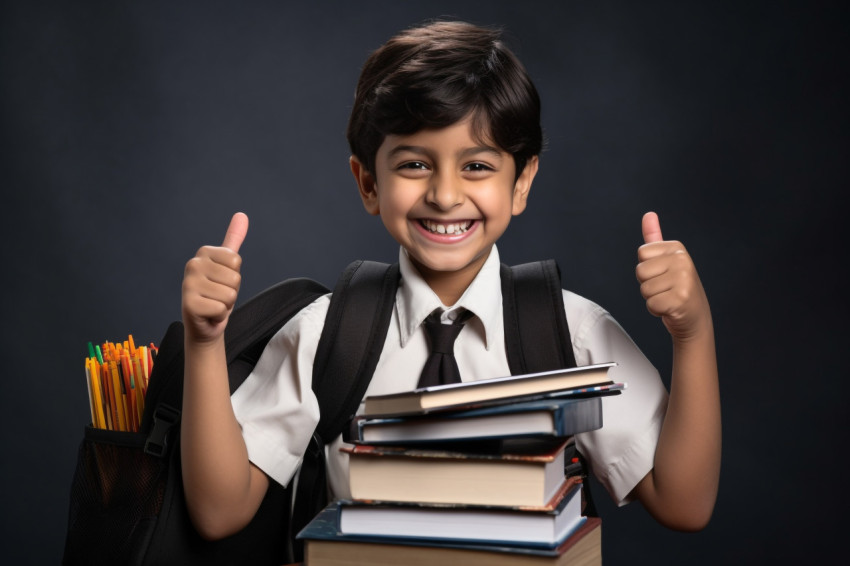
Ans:
[{"label": "long black backpack strap on the left, running down beside the books", "polygon": [[334,288],[313,362],[313,392],[320,420],[301,461],[290,539],[295,562],[303,541],[295,535],[328,502],[325,445],[357,412],[384,348],[398,287],[398,264],[351,263]]}]

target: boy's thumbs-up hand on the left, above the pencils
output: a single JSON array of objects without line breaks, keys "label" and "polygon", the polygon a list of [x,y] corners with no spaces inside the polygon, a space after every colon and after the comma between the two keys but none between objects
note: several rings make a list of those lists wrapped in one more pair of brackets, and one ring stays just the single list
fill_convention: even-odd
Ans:
[{"label": "boy's thumbs-up hand on the left, above the pencils", "polygon": [[236,304],[242,276],[239,247],[248,233],[248,217],[237,212],[221,246],[204,246],[183,273],[183,325],[186,338],[211,343],[224,335]]}]

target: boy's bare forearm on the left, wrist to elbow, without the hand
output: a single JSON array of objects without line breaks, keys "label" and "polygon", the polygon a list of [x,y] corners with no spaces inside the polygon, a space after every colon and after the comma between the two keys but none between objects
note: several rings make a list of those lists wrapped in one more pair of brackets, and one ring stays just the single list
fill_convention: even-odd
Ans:
[{"label": "boy's bare forearm on the left, wrist to elbow, without the hand", "polygon": [[253,517],[267,483],[250,465],[230,403],[224,341],[186,340],[181,457],[186,502],[202,535],[220,538]]}]

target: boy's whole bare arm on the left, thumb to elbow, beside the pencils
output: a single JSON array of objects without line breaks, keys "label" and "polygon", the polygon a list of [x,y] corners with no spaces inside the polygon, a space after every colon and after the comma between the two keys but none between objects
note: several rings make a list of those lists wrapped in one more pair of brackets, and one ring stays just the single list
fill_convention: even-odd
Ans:
[{"label": "boy's whole bare arm on the left, thumb to elbow, beside the pencils", "polygon": [[235,214],[222,246],[198,250],[183,278],[183,485],[195,528],[211,539],[247,525],[268,488],[268,478],[248,461],[230,403],[224,348],[224,328],[241,282],[238,251],[247,231],[248,217]]}]

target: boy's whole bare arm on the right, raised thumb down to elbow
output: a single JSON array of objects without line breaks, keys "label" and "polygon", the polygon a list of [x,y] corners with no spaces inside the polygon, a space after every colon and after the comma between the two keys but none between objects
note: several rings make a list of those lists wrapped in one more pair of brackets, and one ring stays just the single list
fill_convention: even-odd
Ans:
[{"label": "boy's whole bare arm on the right, raised thumb down to elbow", "polygon": [[720,392],[711,311],[685,247],[664,241],[658,216],[643,218],[636,269],[649,311],[673,339],[673,375],[653,469],[633,494],[660,523],[708,524],[720,479]]}]

